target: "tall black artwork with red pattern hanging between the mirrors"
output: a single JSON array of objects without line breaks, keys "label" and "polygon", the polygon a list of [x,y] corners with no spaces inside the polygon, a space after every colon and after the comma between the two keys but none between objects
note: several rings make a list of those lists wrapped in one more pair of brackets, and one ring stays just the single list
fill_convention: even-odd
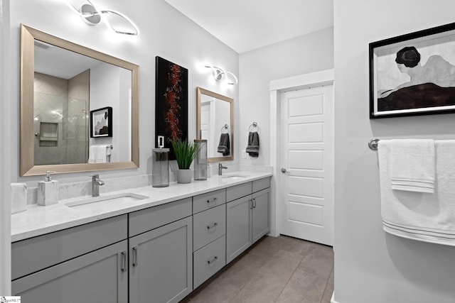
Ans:
[{"label": "tall black artwork with red pattern hanging between the mirrors", "polygon": [[175,160],[171,141],[188,138],[188,70],[156,56],[155,146],[169,148],[169,159]]}]

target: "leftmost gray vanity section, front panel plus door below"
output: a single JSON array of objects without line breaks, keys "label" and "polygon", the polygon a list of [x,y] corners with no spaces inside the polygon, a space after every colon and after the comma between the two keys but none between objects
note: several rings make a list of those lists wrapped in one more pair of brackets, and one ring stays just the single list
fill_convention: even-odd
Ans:
[{"label": "leftmost gray vanity section, front panel plus door below", "polygon": [[128,302],[126,228],[124,215],[13,243],[11,292],[23,302]]}]

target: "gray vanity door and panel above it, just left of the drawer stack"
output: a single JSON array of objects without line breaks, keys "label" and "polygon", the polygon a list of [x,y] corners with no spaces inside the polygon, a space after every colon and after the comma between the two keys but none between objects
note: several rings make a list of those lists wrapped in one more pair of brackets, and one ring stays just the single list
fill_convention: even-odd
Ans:
[{"label": "gray vanity door and panel above it, just left of the drawer stack", "polygon": [[178,302],[193,291],[191,214],[191,198],[129,214],[129,303]]}]

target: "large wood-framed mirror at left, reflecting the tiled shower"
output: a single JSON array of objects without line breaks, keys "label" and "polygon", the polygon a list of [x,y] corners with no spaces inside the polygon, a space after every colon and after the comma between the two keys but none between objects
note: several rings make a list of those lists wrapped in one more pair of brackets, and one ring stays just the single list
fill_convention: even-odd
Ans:
[{"label": "large wood-framed mirror at left, reflecting the tiled shower", "polygon": [[139,66],[21,25],[21,176],[135,167]]}]

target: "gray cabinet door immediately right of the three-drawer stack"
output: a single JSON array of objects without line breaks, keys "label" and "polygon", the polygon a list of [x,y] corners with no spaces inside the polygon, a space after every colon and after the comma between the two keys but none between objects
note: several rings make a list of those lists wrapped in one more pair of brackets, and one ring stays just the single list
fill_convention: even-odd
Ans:
[{"label": "gray cabinet door immediately right of the three-drawer stack", "polygon": [[252,199],[243,197],[226,204],[226,262],[251,246]]}]

